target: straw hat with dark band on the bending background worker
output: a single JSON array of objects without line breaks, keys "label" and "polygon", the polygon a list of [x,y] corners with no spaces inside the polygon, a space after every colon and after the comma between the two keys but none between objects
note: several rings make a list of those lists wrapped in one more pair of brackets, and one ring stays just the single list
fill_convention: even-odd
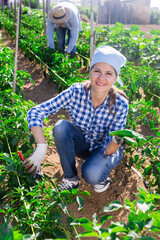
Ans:
[{"label": "straw hat with dark band on the bending background worker", "polygon": [[48,17],[53,23],[64,23],[70,18],[70,15],[68,8],[57,5],[49,11]]}]

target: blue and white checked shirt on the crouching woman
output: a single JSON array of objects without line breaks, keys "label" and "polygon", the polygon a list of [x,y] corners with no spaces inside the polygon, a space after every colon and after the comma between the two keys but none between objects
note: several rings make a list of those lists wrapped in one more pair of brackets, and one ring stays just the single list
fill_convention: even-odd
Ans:
[{"label": "blue and white checked shirt on the crouching woman", "polygon": [[[86,96],[82,83],[75,83],[56,97],[43,102],[29,110],[27,117],[29,129],[33,126],[42,127],[43,119],[66,108],[72,122],[81,129],[85,139],[90,143],[89,150],[103,146],[112,140],[112,131],[124,129],[128,114],[128,101],[121,94],[116,94],[116,115],[109,112],[109,96],[96,109],[91,100],[90,89]],[[115,106],[111,110],[114,112]]]}]

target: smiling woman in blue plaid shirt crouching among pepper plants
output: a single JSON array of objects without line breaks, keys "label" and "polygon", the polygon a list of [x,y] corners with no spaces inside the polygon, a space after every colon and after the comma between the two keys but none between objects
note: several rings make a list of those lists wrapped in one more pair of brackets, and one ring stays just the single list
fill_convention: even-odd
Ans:
[{"label": "smiling woman in blue plaid shirt crouching among pepper plants", "polygon": [[28,112],[29,128],[37,147],[24,161],[29,171],[40,169],[47,151],[42,121],[66,108],[72,122],[59,120],[53,129],[54,140],[64,172],[62,190],[79,187],[75,157],[85,159],[82,177],[96,192],[105,191],[111,182],[110,172],[122,160],[123,148],[109,133],[123,129],[128,113],[125,94],[113,87],[119,79],[126,58],[109,46],[96,49],[90,65],[90,83],[76,83]]}]

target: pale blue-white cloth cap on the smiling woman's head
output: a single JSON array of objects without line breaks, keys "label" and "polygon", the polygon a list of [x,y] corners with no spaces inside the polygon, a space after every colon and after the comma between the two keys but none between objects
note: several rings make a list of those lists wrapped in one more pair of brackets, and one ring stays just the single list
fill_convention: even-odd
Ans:
[{"label": "pale blue-white cloth cap on the smiling woman's head", "polygon": [[[119,75],[121,67],[123,67],[126,63],[126,57],[110,46],[100,46],[94,52],[90,69],[95,63],[99,62],[108,63],[115,69],[117,75]],[[123,82],[119,77],[117,78],[117,81],[123,86]]]}]

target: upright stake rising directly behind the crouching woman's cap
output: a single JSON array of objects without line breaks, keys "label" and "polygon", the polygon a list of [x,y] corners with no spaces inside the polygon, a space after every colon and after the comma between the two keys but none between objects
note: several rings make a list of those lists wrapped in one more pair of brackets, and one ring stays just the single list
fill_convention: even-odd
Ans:
[{"label": "upright stake rising directly behind the crouching woman's cap", "polygon": [[90,11],[91,11],[91,36],[90,36],[90,61],[92,60],[93,57],[93,51],[94,51],[94,12],[93,12],[93,0],[90,0]]}]

